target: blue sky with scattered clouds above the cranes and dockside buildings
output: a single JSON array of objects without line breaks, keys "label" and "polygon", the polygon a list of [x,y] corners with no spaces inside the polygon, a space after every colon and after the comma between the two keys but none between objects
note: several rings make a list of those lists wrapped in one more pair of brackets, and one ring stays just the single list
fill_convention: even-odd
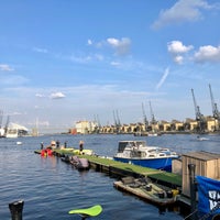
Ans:
[{"label": "blue sky with scattered clouds above the cranes and dockside buildings", "polygon": [[2,124],[73,128],[212,116],[218,0],[1,0]]}]

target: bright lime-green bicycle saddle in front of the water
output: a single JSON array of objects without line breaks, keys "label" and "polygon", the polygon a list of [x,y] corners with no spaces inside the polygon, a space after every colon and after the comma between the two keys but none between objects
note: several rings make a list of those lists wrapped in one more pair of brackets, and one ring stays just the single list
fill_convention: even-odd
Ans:
[{"label": "bright lime-green bicycle saddle in front of the water", "polygon": [[86,219],[87,217],[96,217],[100,215],[102,211],[102,207],[100,205],[92,206],[87,209],[73,209],[68,213],[77,213],[82,217],[82,219]]}]

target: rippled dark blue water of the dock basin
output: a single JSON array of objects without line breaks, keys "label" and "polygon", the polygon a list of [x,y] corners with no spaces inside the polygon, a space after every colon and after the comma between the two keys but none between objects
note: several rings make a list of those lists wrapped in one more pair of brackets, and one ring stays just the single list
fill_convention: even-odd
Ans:
[{"label": "rippled dark blue water of the dock basin", "polygon": [[[169,147],[178,153],[209,151],[220,153],[220,136],[208,135],[209,140],[198,141],[196,135],[162,135],[147,138],[148,145]],[[57,157],[41,157],[34,154],[40,143],[50,144],[59,140],[68,146],[78,147],[80,140],[85,148],[97,154],[113,156],[120,140],[140,139],[133,135],[56,135],[20,139],[0,139],[0,219],[11,219],[9,204],[24,200],[23,219],[61,220],[80,219],[68,211],[101,205],[102,213],[95,219],[142,220],[183,219],[178,210],[163,212],[134,196],[113,187],[113,177],[90,169],[78,172]],[[141,138],[146,140],[146,138]],[[16,145],[21,141],[22,145]]]}]

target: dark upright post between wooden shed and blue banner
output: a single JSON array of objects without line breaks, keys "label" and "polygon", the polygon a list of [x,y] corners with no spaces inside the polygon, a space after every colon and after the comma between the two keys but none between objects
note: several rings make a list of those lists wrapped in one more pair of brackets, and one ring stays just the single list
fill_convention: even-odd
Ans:
[{"label": "dark upright post between wooden shed and blue banner", "polygon": [[195,183],[195,169],[196,165],[195,164],[188,164],[188,169],[189,169],[189,184],[190,184],[190,205],[191,205],[191,219],[196,220],[197,215],[196,215],[196,183]]}]

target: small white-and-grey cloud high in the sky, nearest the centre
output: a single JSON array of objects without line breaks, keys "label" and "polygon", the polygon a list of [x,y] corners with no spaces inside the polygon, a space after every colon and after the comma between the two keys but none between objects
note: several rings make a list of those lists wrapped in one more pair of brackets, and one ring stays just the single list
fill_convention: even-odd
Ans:
[{"label": "small white-and-grey cloud high in the sky, nearest the centre", "polygon": [[116,50],[117,55],[127,55],[130,53],[131,40],[128,37],[118,38],[107,38],[107,43]]}]

